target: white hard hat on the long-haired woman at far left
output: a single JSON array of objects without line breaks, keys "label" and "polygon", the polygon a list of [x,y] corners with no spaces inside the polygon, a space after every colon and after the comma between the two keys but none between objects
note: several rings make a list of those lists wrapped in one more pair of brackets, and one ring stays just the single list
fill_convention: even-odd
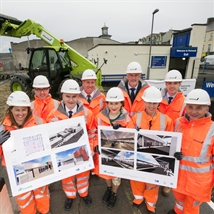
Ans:
[{"label": "white hard hat on the long-haired woman at far left", "polygon": [[23,91],[14,91],[7,98],[7,105],[9,106],[30,106],[30,99]]}]

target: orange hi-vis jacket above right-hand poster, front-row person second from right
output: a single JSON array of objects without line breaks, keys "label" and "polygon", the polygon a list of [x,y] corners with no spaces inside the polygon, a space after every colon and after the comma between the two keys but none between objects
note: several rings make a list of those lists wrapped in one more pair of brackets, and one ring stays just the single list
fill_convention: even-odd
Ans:
[{"label": "orange hi-vis jacket above right-hand poster, front-row person second from right", "polygon": [[129,123],[127,128],[135,128],[147,130],[173,131],[172,119],[157,111],[154,117],[149,116],[145,111],[139,112],[132,117],[132,123]]}]

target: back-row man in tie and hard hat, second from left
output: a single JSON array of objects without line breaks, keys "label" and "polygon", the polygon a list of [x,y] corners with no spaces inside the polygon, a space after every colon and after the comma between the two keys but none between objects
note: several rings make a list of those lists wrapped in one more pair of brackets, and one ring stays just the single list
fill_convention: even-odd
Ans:
[{"label": "back-row man in tie and hard hat, second from left", "polygon": [[79,100],[90,109],[96,116],[105,107],[105,95],[96,87],[96,74],[87,69],[82,75],[82,87],[80,88]]}]

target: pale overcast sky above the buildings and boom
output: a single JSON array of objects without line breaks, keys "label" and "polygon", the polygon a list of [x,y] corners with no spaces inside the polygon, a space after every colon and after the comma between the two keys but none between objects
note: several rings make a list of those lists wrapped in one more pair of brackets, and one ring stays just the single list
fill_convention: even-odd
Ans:
[{"label": "pale overcast sky above the buildings and boom", "polygon": [[[205,24],[207,18],[214,17],[214,0],[0,0],[1,14],[21,21],[31,19],[65,41],[98,37],[104,23],[111,39],[138,41],[151,33],[156,8],[153,33]],[[27,38],[0,37],[0,53],[9,52],[11,41],[24,40]]]}]

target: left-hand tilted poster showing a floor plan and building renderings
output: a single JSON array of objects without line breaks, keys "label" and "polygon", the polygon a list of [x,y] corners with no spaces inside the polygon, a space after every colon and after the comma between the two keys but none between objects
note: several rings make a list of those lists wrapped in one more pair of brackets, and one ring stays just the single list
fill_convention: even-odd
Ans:
[{"label": "left-hand tilted poster showing a floor plan and building renderings", "polygon": [[3,150],[13,196],[94,168],[83,116],[11,131]]}]

